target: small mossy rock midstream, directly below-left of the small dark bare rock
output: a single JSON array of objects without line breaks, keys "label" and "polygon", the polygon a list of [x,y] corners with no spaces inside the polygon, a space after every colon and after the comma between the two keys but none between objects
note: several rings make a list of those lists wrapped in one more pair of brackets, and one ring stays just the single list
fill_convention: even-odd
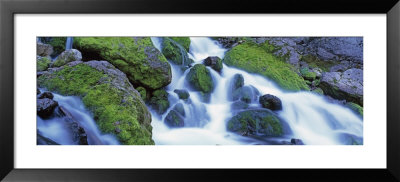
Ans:
[{"label": "small mossy rock midstream, directly below-left of the small dark bare rock", "polygon": [[186,80],[193,89],[203,93],[211,93],[214,83],[210,71],[202,64],[194,65],[186,76]]}]

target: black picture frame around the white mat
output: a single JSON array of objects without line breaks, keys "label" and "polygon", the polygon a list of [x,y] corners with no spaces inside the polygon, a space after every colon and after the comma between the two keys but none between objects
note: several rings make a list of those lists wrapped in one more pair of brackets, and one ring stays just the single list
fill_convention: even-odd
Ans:
[{"label": "black picture frame around the white mat", "polygon": [[[14,15],[30,13],[381,13],[387,15],[386,169],[15,169]],[[317,16],[317,15],[316,15]],[[400,181],[398,0],[0,0],[0,179],[5,181]],[[295,155],[295,154],[294,154]],[[367,160],[367,159],[366,159]]]}]

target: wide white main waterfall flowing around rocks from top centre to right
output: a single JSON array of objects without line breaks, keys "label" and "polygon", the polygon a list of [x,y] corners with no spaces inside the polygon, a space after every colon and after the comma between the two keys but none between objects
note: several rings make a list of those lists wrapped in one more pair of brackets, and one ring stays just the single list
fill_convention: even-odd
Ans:
[{"label": "wide white main waterfall flowing around rocks from top centre to right", "polygon": [[[159,39],[152,38],[153,43]],[[160,44],[156,45],[159,46]],[[160,49],[160,47],[157,47]],[[209,56],[223,58],[227,50],[209,38],[191,38],[188,56],[201,64]],[[230,80],[235,74],[242,74],[245,86],[256,88],[261,95],[272,94],[281,99],[283,109],[278,111],[279,117],[284,119],[292,133],[283,137],[271,138],[271,141],[261,144],[273,144],[276,141],[299,138],[305,144],[343,144],[343,136],[363,138],[363,121],[350,109],[331,103],[324,96],[311,92],[285,92],[274,82],[257,75],[250,74],[240,69],[223,64],[221,73],[207,67],[211,72],[215,89],[211,94],[209,103],[201,101],[198,92],[191,91],[185,82],[189,70],[181,71],[180,67],[171,64],[172,82],[167,86],[169,93],[170,109],[161,117],[152,112],[153,139],[156,144],[260,144],[254,138],[243,137],[226,129],[227,121],[233,116],[230,111],[232,101],[228,99]],[[188,101],[179,100],[175,89],[187,89],[190,97]],[[168,112],[176,105],[182,104],[186,113],[185,127],[168,128],[163,120]],[[258,102],[251,106],[260,107]],[[197,123],[197,124],[194,124]],[[275,141],[276,140],[276,141]]]}]

